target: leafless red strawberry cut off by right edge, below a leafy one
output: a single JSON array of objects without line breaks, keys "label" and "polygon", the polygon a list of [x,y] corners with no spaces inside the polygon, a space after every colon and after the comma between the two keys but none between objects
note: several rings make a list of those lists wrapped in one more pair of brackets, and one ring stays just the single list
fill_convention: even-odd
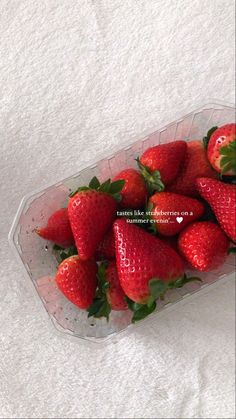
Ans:
[{"label": "leafless red strawberry cut off by right edge, below a leafy one", "polygon": [[236,241],[236,185],[215,179],[196,180],[201,196],[210,204],[221,228],[230,239]]}]

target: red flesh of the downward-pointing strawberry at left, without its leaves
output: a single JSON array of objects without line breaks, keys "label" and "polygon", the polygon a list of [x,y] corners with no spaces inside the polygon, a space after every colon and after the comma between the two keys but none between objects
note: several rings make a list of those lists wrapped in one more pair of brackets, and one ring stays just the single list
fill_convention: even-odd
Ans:
[{"label": "red flesh of the downward-pointing strawberry at left, without its leaves", "polygon": [[90,259],[112,225],[116,201],[104,192],[80,191],[70,198],[68,214],[78,254]]}]

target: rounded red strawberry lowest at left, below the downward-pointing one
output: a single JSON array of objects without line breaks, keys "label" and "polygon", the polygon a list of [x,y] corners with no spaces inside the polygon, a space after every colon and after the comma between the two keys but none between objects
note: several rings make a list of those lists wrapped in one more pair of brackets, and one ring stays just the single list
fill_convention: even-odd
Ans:
[{"label": "rounded red strawberry lowest at left, below the downward-pointing one", "polygon": [[79,256],[63,260],[56,274],[60,291],[79,308],[88,308],[97,287],[97,265],[94,260],[83,261]]}]

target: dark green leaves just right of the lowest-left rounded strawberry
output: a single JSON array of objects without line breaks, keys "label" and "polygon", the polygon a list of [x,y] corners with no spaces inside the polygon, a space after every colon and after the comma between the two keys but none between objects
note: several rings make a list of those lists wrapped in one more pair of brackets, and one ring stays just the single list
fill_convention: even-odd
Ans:
[{"label": "dark green leaves just right of the lowest-left rounded strawberry", "polygon": [[107,300],[107,290],[109,288],[109,282],[106,280],[106,268],[107,262],[102,262],[98,267],[97,279],[98,288],[92,304],[87,309],[88,317],[101,318],[106,317],[109,320],[109,314],[111,312],[111,305]]}]

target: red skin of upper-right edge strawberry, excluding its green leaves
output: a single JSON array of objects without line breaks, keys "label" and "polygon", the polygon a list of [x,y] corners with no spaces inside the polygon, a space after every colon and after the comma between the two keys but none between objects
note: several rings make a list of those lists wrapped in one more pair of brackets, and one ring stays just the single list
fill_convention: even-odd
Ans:
[{"label": "red skin of upper-right edge strawberry, excluding its green leaves", "polygon": [[[213,132],[207,145],[207,157],[212,167],[218,172],[222,172],[220,150],[236,140],[236,124],[226,124]],[[236,156],[234,157],[234,161]],[[234,170],[228,170],[225,176],[235,175]]]}]

